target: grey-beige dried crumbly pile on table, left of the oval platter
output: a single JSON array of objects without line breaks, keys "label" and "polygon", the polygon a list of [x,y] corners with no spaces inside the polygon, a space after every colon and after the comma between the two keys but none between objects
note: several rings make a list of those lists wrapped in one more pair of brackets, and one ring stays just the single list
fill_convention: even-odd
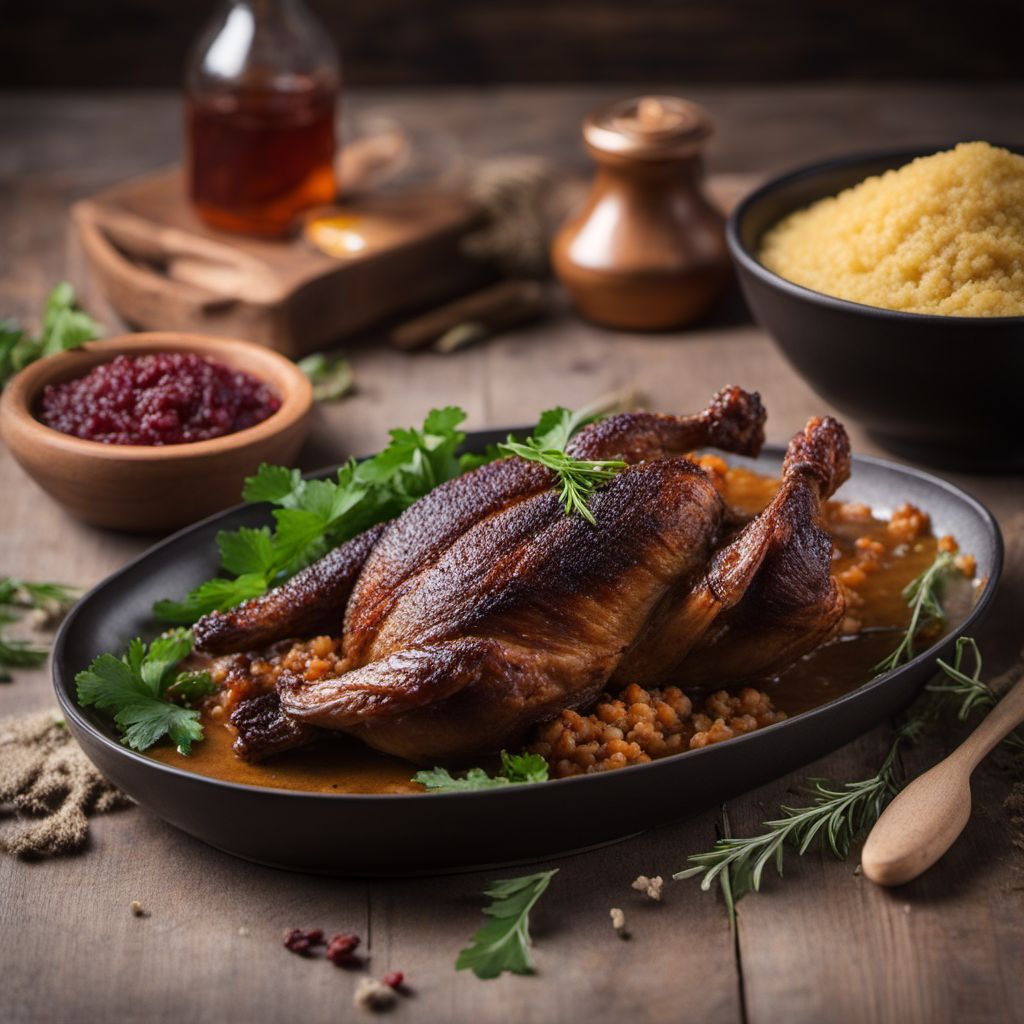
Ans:
[{"label": "grey-beige dried crumbly pile on table, left of the oval platter", "polygon": [[0,719],[0,852],[74,853],[88,839],[89,815],[130,803],[53,712]]}]

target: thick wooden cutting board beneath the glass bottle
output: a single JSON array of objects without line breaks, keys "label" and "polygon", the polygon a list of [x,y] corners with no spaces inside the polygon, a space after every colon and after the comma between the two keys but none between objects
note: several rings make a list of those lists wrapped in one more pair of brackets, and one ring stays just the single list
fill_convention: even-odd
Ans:
[{"label": "thick wooden cutting board beneath the glass bottle", "polygon": [[339,206],[345,255],[301,236],[263,241],[207,227],[181,172],[118,184],[72,208],[72,276],[90,308],[133,327],[246,338],[296,357],[486,280],[463,252],[469,200],[380,193]]}]

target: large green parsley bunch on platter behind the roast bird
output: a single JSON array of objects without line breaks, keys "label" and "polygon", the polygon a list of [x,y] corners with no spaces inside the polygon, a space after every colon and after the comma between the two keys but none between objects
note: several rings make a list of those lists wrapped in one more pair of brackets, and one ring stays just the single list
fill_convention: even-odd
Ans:
[{"label": "large green parsley bunch on platter behind the roast bird", "polygon": [[435,409],[421,429],[392,430],[387,447],[365,462],[348,462],[330,480],[260,466],[246,480],[243,497],[276,506],[273,528],[219,532],[221,568],[230,578],[209,580],[181,601],[158,601],[154,611],[165,622],[191,625],[258,597],[337,545],[393,519],[462,471],[455,453],[466,439],[459,429],[465,418],[455,407]]}]

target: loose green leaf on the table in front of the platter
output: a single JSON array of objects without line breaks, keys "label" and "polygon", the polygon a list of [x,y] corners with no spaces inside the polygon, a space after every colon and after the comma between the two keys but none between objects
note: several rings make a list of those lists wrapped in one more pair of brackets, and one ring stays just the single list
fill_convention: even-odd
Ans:
[{"label": "loose green leaf on the table in front of the platter", "polygon": [[555,868],[518,879],[503,879],[484,890],[492,902],[483,912],[492,920],[459,953],[456,970],[468,968],[477,978],[497,978],[503,971],[532,974],[529,911],[557,873],[558,868]]}]

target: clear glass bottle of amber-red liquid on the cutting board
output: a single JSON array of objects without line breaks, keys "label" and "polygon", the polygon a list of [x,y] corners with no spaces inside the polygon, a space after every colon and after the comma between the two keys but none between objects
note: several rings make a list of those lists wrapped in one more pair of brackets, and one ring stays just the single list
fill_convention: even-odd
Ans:
[{"label": "clear glass bottle of amber-red liquid on the cutting board", "polygon": [[200,217],[280,237],[333,202],[340,82],[302,0],[224,0],[185,70],[185,173]]}]

